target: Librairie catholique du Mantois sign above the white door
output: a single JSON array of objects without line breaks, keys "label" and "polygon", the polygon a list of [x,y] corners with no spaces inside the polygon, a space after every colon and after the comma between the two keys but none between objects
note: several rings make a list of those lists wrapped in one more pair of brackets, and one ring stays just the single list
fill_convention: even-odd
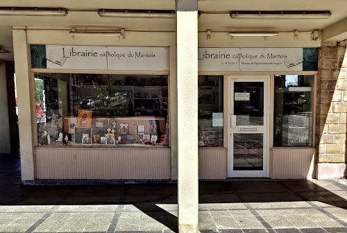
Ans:
[{"label": "Librairie catholique du Mantois sign above the white door", "polygon": [[199,48],[199,71],[317,70],[316,48]]}]

